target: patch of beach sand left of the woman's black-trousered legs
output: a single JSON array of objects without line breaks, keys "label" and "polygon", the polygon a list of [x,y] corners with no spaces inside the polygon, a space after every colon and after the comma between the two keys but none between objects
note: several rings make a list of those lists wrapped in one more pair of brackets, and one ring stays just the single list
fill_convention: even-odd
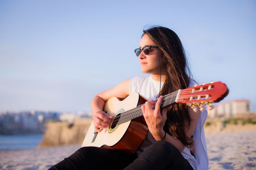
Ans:
[{"label": "patch of beach sand left of the woman's black-trousered legs", "polygon": [[49,169],[78,148],[79,146],[73,145],[29,150],[2,150],[0,151],[0,169]]}]

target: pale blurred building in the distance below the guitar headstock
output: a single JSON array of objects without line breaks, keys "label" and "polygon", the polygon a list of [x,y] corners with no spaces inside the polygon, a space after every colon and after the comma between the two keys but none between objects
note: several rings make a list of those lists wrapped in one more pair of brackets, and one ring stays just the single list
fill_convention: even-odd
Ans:
[{"label": "pale blurred building in the distance below the guitar headstock", "polygon": [[212,110],[208,110],[208,117],[231,118],[236,114],[251,112],[251,102],[249,100],[235,100],[215,105]]}]

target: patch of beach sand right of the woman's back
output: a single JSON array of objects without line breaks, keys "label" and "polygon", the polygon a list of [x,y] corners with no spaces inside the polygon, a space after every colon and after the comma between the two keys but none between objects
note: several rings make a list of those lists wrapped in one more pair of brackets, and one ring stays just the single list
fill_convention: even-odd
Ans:
[{"label": "patch of beach sand right of the woman's back", "polygon": [[256,131],[206,136],[209,169],[256,169]]}]

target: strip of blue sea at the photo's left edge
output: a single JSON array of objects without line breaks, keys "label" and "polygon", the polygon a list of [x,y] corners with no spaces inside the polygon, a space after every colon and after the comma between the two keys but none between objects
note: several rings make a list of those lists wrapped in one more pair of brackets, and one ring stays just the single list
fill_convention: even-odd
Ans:
[{"label": "strip of blue sea at the photo's left edge", "polygon": [[36,148],[44,134],[0,135],[0,150],[26,150]]}]

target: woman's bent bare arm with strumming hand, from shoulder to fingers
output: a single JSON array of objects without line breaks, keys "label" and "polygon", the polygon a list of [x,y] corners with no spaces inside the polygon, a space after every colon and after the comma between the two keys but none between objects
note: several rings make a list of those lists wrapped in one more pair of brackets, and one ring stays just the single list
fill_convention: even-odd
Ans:
[{"label": "woman's bent bare arm with strumming hand, from shoulder to fingers", "polygon": [[91,111],[93,113],[93,124],[96,132],[101,132],[103,128],[107,128],[113,117],[109,117],[108,114],[102,111],[104,104],[111,97],[118,97],[124,99],[129,96],[129,82],[130,79],[122,81],[115,87],[100,92],[92,99]]}]

